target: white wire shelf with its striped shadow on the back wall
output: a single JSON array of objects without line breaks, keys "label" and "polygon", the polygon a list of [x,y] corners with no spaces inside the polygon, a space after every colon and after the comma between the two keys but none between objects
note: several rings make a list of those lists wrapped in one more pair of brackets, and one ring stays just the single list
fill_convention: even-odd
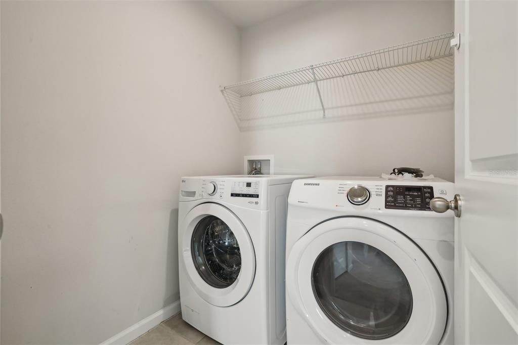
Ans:
[{"label": "white wire shelf with its striped shadow on the back wall", "polygon": [[453,36],[446,33],[243,81],[221,87],[221,92],[241,129],[397,112],[398,107],[448,107],[453,104]]}]

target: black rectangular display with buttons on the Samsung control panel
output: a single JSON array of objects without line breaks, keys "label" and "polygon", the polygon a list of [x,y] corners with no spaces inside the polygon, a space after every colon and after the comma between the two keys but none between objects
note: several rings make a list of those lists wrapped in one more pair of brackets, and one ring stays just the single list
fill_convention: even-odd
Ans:
[{"label": "black rectangular display with buttons on the Samsung control panel", "polygon": [[431,211],[430,200],[433,197],[434,188],[431,186],[385,186],[386,209]]}]

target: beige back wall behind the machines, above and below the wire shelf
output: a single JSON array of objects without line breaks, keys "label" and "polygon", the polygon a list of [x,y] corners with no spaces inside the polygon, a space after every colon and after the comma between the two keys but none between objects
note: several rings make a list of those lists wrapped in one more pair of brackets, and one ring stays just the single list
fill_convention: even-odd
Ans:
[{"label": "beige back wall behind the machines, above and below the wire shelf", "polygon": [[[247,80],[453,31],[453,1],[319,2],[246,28]],[[450,111],[241,133],[241,154],[274,154],[276,174],[379,176],[421,167],[453,181]]]}]

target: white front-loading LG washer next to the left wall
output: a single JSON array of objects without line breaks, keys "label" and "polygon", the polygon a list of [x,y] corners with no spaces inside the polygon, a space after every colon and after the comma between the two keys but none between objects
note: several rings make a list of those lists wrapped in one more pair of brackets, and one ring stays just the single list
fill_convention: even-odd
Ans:
[{"label": "white front-loading LG washer next to the left wall", "polygon": [[182,318],[223,344],[284,344],[287,197],[307,176],[184,177]]}]

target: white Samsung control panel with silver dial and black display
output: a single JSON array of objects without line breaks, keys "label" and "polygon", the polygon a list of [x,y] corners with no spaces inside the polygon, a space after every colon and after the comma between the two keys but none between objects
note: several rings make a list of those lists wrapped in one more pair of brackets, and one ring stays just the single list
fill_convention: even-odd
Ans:
[{"label": "white Samsung control panel with silver dial and black display", "polygon": [[439,178],[387,180],[330,176],[294,181],[288,203],[292,213],[300,209],[300,217],[303,218],[309,209],[338,211],[336,214],[341,215],[453,218],[453,212],[437,213],[430,209],[430,201],[434,197],[449,200],[453,195],[454,184]]}]

